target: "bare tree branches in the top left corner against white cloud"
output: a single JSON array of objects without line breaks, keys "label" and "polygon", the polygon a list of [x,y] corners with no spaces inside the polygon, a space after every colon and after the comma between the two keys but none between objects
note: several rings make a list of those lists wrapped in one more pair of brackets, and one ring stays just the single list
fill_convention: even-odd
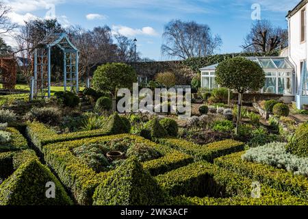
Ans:
[{"label": "bare tree branches in the top left corner against white cloud", "polygon": [[0,1],[0,34],[10,33],[18,25],[11,23],[8,14],[11,12],[11,8],[5,5],[3,1]]}]

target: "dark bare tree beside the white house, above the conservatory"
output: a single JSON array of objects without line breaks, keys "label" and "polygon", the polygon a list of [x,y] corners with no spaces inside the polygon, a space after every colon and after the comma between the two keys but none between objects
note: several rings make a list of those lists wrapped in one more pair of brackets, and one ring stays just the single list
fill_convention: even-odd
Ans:
[{"label": "dark bare tree beside the white house, above the conservatory", "polygon": [[268,53],[287,47],[287,41],[287,29],[274,27],[270,21],[261,20],[253,23],[242,48],[248,52]]}]

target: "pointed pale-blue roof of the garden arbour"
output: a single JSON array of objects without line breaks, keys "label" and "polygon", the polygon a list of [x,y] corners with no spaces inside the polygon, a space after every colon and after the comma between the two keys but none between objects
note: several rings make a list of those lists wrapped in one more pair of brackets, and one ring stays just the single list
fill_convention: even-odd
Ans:
[{"label": "pointed pale-blue roof of the garden arbour", "polygon": [[51,33],[38,43],[36,48],[48,48],[57,46],[65,52],[77,52],[78,49],[68,39],[65,33]]}]

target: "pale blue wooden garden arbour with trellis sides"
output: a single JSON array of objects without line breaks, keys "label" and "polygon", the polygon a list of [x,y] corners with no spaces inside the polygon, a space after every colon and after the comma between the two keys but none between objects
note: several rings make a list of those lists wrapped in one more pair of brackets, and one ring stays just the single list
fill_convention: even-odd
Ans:
[{"label": "pale blue wooden garden arbour with trellis sides", "polygon": [[51,48],[59,47],[63,52],[64,90],[70,86],[70,91],[79,91],[78,82],[78,49],[70,42],[65,33],[49,34],[34,48],[34,95],[47,91],[51,96]]}]

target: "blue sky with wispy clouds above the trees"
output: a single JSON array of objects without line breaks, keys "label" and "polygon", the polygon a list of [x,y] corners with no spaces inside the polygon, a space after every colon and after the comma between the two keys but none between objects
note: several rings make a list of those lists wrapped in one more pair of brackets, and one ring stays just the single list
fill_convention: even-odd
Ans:
[{"label": "blue sky with wispy clouds above the trees", "polygon": [[[218,53],[241,51],[251,24],[251,5],[261,6],[261,18],[287,27],[285,15],[299,0],[4,0],[12,8],[10,18],[23,25],[31,18],[55,16],[62,25],[92,29],[108,25],[115,32],[137,38],[143,57],[166,60],[160,47],[164,25],[172,19],[196,21],[211,27],[222,38]],[[53,10],[54,8],[54,10]],[[48,12],[48,13],[47,13]],[[12,39],[5,40],[14,44]]]}]

